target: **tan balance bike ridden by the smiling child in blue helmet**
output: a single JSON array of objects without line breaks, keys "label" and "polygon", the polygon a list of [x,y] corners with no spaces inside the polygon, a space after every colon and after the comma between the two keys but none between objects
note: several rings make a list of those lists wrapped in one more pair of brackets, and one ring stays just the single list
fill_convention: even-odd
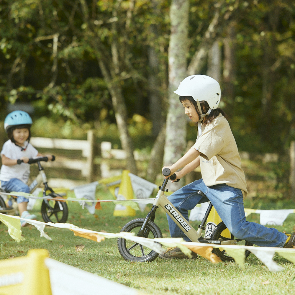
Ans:
[{"label": "tan balance bike ridden by the smiling child in blue helmet", "polygon": [[[55,160],[55,156],[53,156],[52,161]],[[30,193],[32,193],[37,187],[43,183],[43,201],[41,204],[41,214],[42,218],[45,222],[60,222],[65,223],[68,219],[68,205],[65,203],[63,197],[59,194],[56,194],[52,188],[50,188],[47,184],[47,177],[44,172],[44,168],[41,165],[41,161],[48,161],[47,157],[38,157],[29,159],[29,164],[37,163],[39,174],[30,184]],[[21,163],[21,160],[20,160]],[[10,193],[10,191],[5,191],[1,189],[1,192]],[[15,210],[13,207],[6,207],[5,201],[1,196],[0,192],[0,212],[4,214],[13,215]],[[50,199],[46,199],[46,197],[50,197]],[[56,200],[55,200],[56,198]],[[16,201],[15,198],[12,197],[12,201]]]}]

